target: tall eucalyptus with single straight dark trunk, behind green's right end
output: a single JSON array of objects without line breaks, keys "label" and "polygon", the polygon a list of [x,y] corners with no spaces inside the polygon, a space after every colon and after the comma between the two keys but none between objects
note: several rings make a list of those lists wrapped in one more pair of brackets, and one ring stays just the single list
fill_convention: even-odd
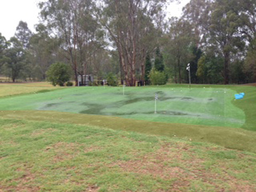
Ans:
[{"label": "tall eucalyptus with single straight dark trunk, behind green's right end", "polygon": [[229,83],[230,55],[244,48],[244,42],[239,36],[240,17],[233,10],[233,2],[236,1],[217,0],[212,5],[214,11],[211,14],[209,26],[209,43],[215,45],[224,56],[224,84]]}]

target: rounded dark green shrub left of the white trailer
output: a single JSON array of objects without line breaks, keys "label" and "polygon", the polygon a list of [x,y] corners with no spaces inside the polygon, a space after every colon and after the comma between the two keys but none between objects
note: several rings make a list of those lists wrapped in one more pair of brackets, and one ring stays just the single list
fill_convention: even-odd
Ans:
[{"label": "rounded dark green shrub left of the white trailer", "polygon": [[70,79],[71,70],[68,65],[61,62],[56,62],[46,72],[47,81],[52,82],[53,86],[64,86],[65,82]]}]

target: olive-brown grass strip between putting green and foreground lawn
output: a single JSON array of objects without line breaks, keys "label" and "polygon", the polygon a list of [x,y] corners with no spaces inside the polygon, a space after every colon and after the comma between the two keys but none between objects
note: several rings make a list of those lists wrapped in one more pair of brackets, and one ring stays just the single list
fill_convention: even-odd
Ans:
[{"label": "olive-brown grass strip between putting green and foreground lawn", "polygon": [[0,118],[86,124],[114,130],[185,138],[256,153],[256,132],[230,127],[148,122],[120,117],[70,114],[54,111],[0,111]]}]

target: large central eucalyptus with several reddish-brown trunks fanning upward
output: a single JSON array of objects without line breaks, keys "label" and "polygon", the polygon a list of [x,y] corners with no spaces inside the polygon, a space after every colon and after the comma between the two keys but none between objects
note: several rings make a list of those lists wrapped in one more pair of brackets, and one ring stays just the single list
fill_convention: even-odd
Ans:
[{"label": "large central eucalyptus with several reddish-brown trunks fanning upward", "polygon": [[147,51],[163,19],[165,0],[104,0],[99,5],[101,24],[108,31],[119,54],[120,66],[128,86],[135,86],[136,69],[145,76]]}]

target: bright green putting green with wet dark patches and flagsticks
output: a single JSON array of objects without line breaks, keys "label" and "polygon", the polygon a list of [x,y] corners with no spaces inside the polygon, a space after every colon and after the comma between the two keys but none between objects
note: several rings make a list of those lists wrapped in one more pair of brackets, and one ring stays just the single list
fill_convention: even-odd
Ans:
[{"label": "bright green putting green with wet dark patches and flagsticks", "polygon": [[[158,94],[155,114],[155,94]],[[0,99],[0,110],[59,111],[138,120],[241,127],[243,110],[223,88],[76,87]]]}]

